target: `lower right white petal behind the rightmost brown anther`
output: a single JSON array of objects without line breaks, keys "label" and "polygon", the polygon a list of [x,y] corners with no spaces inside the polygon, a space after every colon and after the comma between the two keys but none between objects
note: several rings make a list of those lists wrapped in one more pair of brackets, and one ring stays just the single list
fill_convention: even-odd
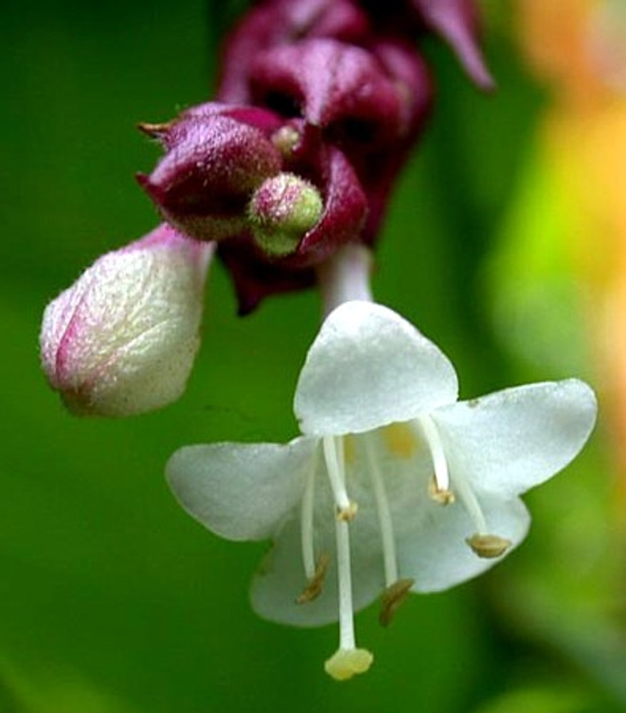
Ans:
[{"label": "lower right white petal behind the rightmost brown anther", "polygon": [[[522,501],[481,498],[481,508],[489,532],[513,543],[508,552],[523,540],[530,515]],[[476,577],[502,559],[482,559],[467,545],[465,538],[475,534],[476,528],[460,502],[429,506],[429,515],[421,520],[418,530],[399,543],[400,575],[414,578],[414,592],[448,589]]]}]

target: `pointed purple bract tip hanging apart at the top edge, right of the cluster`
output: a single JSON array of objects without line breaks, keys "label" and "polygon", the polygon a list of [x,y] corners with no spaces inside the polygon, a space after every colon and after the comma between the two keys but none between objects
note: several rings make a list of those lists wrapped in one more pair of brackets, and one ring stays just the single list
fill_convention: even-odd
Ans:
[{"label": "pointed purple bract tip hanging apart at the top edge, right of the cluster", "polygon": [[482,89],[495,86],[478,43],[478,11],[473,0],[411,0],[427,29],[453,49],[466,73]]}]

